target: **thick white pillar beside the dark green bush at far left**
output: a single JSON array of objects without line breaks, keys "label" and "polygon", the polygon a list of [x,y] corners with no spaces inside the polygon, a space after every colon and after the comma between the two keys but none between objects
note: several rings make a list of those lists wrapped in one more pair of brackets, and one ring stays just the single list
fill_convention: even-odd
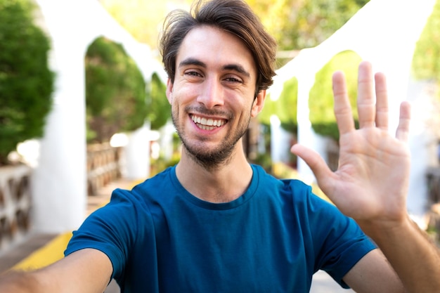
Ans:
[{"label": "thick white pillar beside the dark green bush at far left", "polygon": [[75,38],[75,11],[40,6],[51,34],[56,89],[32,178],[34,228],[60,233],[77,228],[86,212],[85,51]]}]

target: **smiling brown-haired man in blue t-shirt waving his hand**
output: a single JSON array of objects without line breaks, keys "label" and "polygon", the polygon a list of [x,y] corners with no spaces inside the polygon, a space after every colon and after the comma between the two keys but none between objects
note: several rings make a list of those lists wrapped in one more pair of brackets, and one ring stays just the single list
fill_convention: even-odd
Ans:
[{"label": "smiling brown-haired man in blue t-shirt waving his hand", "polygon": [[179,164],[115,190],[64,259],[6,276],[0,291],[103,292],[115,278],[122,292],[309,292],[323,269],[356,292],[438,292],[439,252],[406,214],[410,109],[402,103],[389,136],[384,76],[375,101],[370,64],[359,66],[358,130],[344,77],[333,77],[337,171],[292,147],[356,224],[303,183],[247,162],[242,135],[263,107],[276,44],[243,1],[199,2],[193,13],[169,15],[161,40]]}]

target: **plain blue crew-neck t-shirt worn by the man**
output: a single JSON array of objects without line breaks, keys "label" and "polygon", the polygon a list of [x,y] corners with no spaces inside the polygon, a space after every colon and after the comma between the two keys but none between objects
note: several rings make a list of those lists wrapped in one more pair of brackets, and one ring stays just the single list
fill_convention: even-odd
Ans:
[{"label": "plain blue crew-neck t-shirt worn by the man", "polygon": [[342,278],[373,243],[308,185],[252,169],[247,191],[221,204],[188,193],[175,167],[117,189],[65,254],[101,250],[125,293],[305,293],[319,269],[347,287]]}]

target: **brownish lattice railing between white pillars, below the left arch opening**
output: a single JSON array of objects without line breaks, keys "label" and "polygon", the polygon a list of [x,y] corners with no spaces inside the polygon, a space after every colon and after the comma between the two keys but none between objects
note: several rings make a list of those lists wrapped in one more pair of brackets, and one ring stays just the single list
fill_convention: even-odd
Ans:
[{"label": "brownish lattice railing between white pillars, below the left arch opening", "polygon": [[122,148],[108,143],[87,145],[87,193],[96,195],[101,188],[121,177]]}]

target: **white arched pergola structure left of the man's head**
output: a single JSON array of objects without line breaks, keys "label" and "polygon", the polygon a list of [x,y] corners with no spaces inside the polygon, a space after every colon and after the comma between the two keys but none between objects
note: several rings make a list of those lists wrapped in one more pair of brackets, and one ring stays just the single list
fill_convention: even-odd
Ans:
[{"label": "white arched pergola structure left of the man's head", "polygon": [[[86,132],[84,56],[93,40],[104,36],[122,44],[135,60],[145,80],[153,72],[162,79],[160,63],[150,48],[140,44],[101,6],[91,0],[35,0],[39,25],[51,39],[50,66],[56,72],[53,109],[48,115],[39,159],[34,169],[33,226],[46,233],[76,229],[86,213]],[[132,135],[127,150],[128,175],[148,176],[149,144],[145,131]],[[137,135],[136,135],[137,134]],[[129,156],[130,157],[130,156]]]}]

